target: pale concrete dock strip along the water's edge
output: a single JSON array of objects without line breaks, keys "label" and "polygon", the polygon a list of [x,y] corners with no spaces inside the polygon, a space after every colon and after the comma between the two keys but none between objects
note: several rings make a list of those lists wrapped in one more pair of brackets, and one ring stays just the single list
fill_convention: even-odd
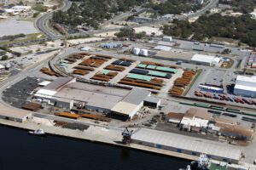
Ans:
[{"label": "pale concrete dock strip along the water's edge", "polygon": [[[67,129],[67,128],[61,128],[61,127],[55,127],[55,126],[49,126],[49,125],[44,125],[41,123],[35,123],[35,122],[13,122],[9,120],[4,120],[0,119],[0,124],[4,126],[9,126],[9,127],[17,127],[23,130],[36,130],[38,128],[44,129],[45,133],[48,133],[50,135],[56,135],[56,136],[61,136],[61,137],[66,137],[66,138],[72,138],[72,139],[83,139],[83,140],[88,140],[91,142],[96,142],[96,143],[102,143],[102,144],[109,144],[113,146],[119,146],[119,147],[125,147],[129,148],[132,150],[142,150],[146,152],[151,152],[154,154],[160,154],[163,156],[172,156],[172,157],[177,157],[181,159],[186,159],[189,161],[196,161],[198,160],[198,156],[192,156],[192,155],[187,155],[184,153],[178,153],[176,151],[172,150],[163,150],[159,148],[154,148],[150,147],[147,145],[143,144],[121,144],[120,141],[122,140],[121,133],[123,129],[113,129],[113,128],[108,128],[108,127],[97,127],[97,126],[92,126],[88,127],[88,129],[84,131],[80,130],[73,130],[73,129]],[[220,161],[219,161],[220,162]],[[235,167],[244,167],[245,169],[256,169],[256,167],[252,164],[247,164],[247,163],[241,163],[241,165],[235,165]]]}]

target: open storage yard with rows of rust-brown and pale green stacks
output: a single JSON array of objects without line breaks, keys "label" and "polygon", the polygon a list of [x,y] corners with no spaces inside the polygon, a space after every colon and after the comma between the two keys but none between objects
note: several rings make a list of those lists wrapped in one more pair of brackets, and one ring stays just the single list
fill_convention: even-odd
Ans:
[{"label": "open storage yard with rows of rust-brown and pale green stacks", "polygon": [[[64,66],[62,60],[68,60],[68,63]],[[172,86],[175,75],[183,73],[183,69],[176,65],[163,65],[147,60],[139,62],[126,58],[115,59],[108,55],[81,53],[69,55],[62,60],[58,61],[59,67],[64,66],[65,71],[70,71],[79,78],[130,88],[151,89],[154,93]]]}]

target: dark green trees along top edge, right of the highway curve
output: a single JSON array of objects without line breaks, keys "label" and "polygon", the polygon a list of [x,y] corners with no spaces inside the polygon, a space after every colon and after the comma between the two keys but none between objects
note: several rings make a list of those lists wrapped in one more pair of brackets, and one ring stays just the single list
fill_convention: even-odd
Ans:
[{"label": "dark green trees along top edge, right of the highway curve", "polygon": [[53,21],[74,27],[85,24],[97,29],[100,23],[110,20],[114,14],[129,11],[148,0],[79,0],[79,2],[73,3],[67,12],[55,12]]}]

